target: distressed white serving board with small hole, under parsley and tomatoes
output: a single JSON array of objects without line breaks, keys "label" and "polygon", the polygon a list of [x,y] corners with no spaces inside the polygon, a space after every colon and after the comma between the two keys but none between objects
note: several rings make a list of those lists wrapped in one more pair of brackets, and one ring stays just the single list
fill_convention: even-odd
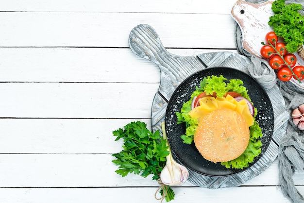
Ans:
[{"label": "distressed white serving board with small hole, under parsley and tomatoes", "polygon": [[[264,3],[254,4],[244,0],[238,0],[233,6],[231,15],[236,20],[242,31],[242,45],[253,55],[262,58],[260,50],[265,42],[265,35],[273,31],[268,25],[269,17],[274,13],[271,10],[271,5],[274,0],[269,0]],[[296,52],[297,65],[304,66],[303,59]],[[304,89],[304,81],[300,84],[292,78],[291,83]]]}]

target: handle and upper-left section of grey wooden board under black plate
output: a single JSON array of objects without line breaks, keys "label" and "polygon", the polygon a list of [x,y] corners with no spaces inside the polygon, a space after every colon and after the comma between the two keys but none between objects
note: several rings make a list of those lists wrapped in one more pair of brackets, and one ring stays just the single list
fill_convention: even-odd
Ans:
[{"label": "handle and upper-left section of grey wooden board under black plate", "polygon": [[161,130],[167,103],[174,90],[186,77],[205,68],[195,56],[179,56],[169,53],[156,31],[147,24],[137,25],[129,36],[130,49],[138,56],[157,64],[161,80],[152,103],[152,128]]}]

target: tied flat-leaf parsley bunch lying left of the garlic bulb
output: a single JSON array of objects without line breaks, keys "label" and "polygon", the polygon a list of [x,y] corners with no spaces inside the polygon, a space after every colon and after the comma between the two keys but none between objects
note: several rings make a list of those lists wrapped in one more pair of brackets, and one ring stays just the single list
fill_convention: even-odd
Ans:
[{"label": "tied flat-leaf parsley bunch lying left of the garlic bulb", "polygon": [[[113,135],[117,136],[115,141],[123,139],[123,150],[112,154],[116,157],[112,162],[119,166],[115,172],[122,177],[134,173],[145,178],[152,174],[152,180],[160,179],[160,172],[166,165],[166,156],[169,155],[169,147],[158,130],[153,134],[147,129],[146,123],[136,121],[125,125],[123,129],[113,131]],[[174,199],[170,186],[163,186],[159,192],[161,195],[166,194],[167,202]]]}]

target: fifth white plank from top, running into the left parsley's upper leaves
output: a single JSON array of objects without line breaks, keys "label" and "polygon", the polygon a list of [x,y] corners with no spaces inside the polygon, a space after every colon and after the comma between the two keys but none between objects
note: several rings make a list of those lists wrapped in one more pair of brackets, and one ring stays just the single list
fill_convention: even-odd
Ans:
[{"label": "fifth white plank from top, running into the left parsley's upper leaves", "polygon": [[112,132],[136,120],[0,119],[0,153],[117,153],[123,142]]}]

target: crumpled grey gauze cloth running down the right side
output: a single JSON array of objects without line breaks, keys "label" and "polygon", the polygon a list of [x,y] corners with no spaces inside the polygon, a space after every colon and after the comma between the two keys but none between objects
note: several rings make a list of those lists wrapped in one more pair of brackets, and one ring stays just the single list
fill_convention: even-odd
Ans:
[{"label": "crumpled grey gauze cloth running down the right side", "polygon": [[[265,0],[247,0],[250,3],[262,3]],[[289,3],[301,3],[304,8],[304,0],[286,0]],[[300,11],[304,15],[304,10]],[[304,131],[301,131],[292,123],[291,112],[304,103],[304,89],[301,89],[290,82],[282,82],[276,78],[276,74],[268,65],[268,62],[252,55],[242,46],[242,33],[235,23],[237,51],[247,56],[253,64],[249,68],[250,74],[264,87],[271,88],[278,85],[286,102],[287,110],[290,113],[287,133],[279,143],[279,186],[282,193],[292,203],[304,203],[303,195],[297,190],[293,181],[293,174],[296,170],[304,171]],[[259,42],[257,42],[259,43]]]}]

